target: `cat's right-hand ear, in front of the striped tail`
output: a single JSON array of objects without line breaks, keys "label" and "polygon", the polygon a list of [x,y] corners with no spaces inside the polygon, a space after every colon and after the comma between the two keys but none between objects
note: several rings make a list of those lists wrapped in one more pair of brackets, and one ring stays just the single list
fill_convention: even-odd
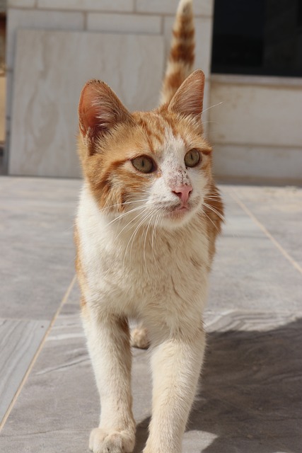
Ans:
[{"label": "cat's right-hand ear, in front of the striped tail", "polygon": [[173,96],[168,110],[181,115],[193,115],[201,119],[204,101],[204,73],[197,69],[185,79]]}]

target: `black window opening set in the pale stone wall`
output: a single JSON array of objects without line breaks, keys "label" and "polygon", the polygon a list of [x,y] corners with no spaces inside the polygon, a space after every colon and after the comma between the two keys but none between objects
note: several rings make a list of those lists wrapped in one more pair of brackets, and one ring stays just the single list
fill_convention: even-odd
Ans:
[{"label": "black window opening set in the pale stone wall", "polygon": [[211,71],[302,76],[302,0],[215,0]]}]

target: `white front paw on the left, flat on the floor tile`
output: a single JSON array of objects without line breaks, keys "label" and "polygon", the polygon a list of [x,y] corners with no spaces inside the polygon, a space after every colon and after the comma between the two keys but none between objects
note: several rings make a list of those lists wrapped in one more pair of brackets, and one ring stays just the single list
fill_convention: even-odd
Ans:
[{"label": "white front paw on the left, flat on the floor tile", "polygon": [[129,431],[105,431],[94,428],[89,439],[89,449],[93,453],[131,453],[135,435]]}]

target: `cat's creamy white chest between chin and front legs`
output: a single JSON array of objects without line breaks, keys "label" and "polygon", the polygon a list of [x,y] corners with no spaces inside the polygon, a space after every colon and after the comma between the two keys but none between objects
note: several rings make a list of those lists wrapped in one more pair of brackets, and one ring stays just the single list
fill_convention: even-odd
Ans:
[{"label": "cat's creamy white chest between chin and front legs", "polygon": [[153,227],[132,231],[108,224],[95,205],[85,201],[79,207],[77,229],[81,265],[91,294],[151,302],[163,296],[197,297],[209,268],[205,225],[197,222],[175,231]]}]

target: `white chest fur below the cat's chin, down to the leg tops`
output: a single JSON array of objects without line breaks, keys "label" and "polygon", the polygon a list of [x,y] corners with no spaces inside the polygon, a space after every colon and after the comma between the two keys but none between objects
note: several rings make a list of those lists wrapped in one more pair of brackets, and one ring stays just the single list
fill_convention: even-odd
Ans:
[{"label": "white chest fur below the cat's chin, down to the leg tops", "polygon": [[[77,216],[87,302],[128,316],[159,319],[201,316],[207,297],[209,252],[199,217],[171,231],[112,222],[83,188]],[[172,322],[172,321],[171,321]]]}]

